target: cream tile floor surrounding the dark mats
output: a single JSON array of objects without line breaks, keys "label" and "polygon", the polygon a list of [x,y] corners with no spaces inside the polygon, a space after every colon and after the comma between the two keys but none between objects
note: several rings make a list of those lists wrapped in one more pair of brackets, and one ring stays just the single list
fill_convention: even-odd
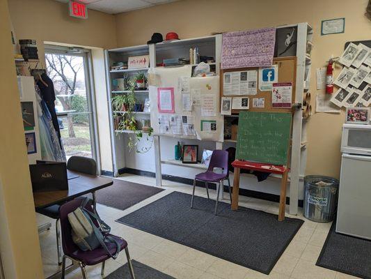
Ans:
[{"label": "cream tile floor surrounding the dark mats", "polygon": [[[142,183],[148,186],[155,186],[155,179],[150,177],[125,175],[120,179]],[[142,232],[139,229],[134,229],[115,222],[118,218],[136,211],[136,209],[139,209],[164,195],[168,195],[168,193],[171,193],[174,190],[184,193],[191,193],[192,190],[192,187],[189,185],[171,181],[164,181],[164,188],[166,190],[145,199],[145,201],[136,204],[125,211],[113,209],[102,204],[98,204],[97,206],[97,211],[100,213],[102,219],[111,226],[112,233],[120,235],[128,241],[129,252],[132,259],[136,259],[143,264],[152,266],[154,269],[179,279],[355,278],[329,269],[323,269],[322,267],[315,265],[319,252],[321,252],[326,239],[326,235],[331,227],[331,223],[319,224],[311,222],[310,220],[303,218],[302,213],[299,213],[298,216],[290,216],[289,214],[286,214],[288,217],[301,218],[305,223],[303,223],[303,226],[290,243],[290,246],[287,247],[281,258],[278,260],[269,276],[237,264],[232,264],[223,259],[213,257],[187,246],[182,246],[178,243],[168,241],[167,239],[162,239],[159,236],[154,236]],[[196,195],[206,197],[205,188],[197,188]],[[215,197],[215,191],[211,190],[210,195],[211,197]],[[224,195],[224,197],[224,202],[228,202],[228,195]],[[274,202],[267,202],[250,197],[240,197],[239,202],[241,206],[259,209],[270,213],[278,213],[278,204]],[[49,220],[49,218],[38,214],[38,223],[40,225],[47,221],[52,221],[53,227],[49,231],[40,234],[40,246],[46,277],[55,273],[59,269],[58,264],[56,264],[56,236],[54,220]],[[108,275],[125,263],[125,253],[122,252],[116,260],[111,259],[106,263],[105,275]],[[87,272],[89,279],[102,278],[100,275],[100,266],[89,266]],[[68,274],[66,278],[81,278],[81,273],[79,269],[77,269]]]}]

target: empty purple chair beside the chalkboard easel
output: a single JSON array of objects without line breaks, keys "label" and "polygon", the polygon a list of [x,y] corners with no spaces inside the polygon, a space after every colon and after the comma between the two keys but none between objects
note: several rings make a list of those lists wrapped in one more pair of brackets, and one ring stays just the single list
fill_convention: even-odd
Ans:
[{"label": "empty purple chair beside the chalkboard easel", "polygon": [[[214,172],[214,168],[223,169],[221,174]],[[232,202],[232,194],[230,192],[230,181],[229,181],[229,171],[228,171],[228,152],[225,150],[214,150],[212,151],[212,158],[210,159],[209,167],[207,167],[207,171],[197,174],[194,178],[194,190],[196,189],[196,181],[205,181],[207,199],[210,198],[209,196],[209,182],[219,183],[218,187],[216,188],[216,203],[215,203],[215,215],[216,210],[218,209],[218,201],[219,201],[219,192],[220,187],[223,181],[228,180],[228,189],[229,189],[229,197],[230,202]],[[191,199],[191,208],[194,206],[194,190],[192,192],[192,199]]]}]

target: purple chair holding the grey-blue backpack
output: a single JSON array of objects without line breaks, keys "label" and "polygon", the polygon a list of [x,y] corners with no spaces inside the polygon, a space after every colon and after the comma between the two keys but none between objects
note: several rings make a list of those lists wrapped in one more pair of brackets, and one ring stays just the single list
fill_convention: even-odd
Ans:
[{"label": "purple chair holding the grey-blue backpack", "polygon": [[[77,247],[76,244],[72,241],[72,228],[70,225],[70,221],[68,220],[68,213],[71,213],[79,206],[81,203],[84,202],[84,199],[74,199],[70,202],[67,202],[61,206],[59,209],[60,220],[61,220],[61,232],[62,232],[62,247],[63,247],[63,263],[62,263],[62,279],[65,278],[65,259],[71,259],[73,262],[78,262],[82,277],[86,279],[86,270],[85,266],[93,266],[95,264],[102,263],[102,271],[101,274],[104,274],[104,263],[106,259],[109,259],[110,256],[107,255],[104,248],[97,248],[91,251],[83,251]],[[93,205],[90,202],[86,205],[86,209],[93,212]],[[98,225],[95,222],[95,225]],[[109,234],[109,236],[113,237],[120,243],[121,250],[125,248],[125,253],[127,257],[127,265],[129,266],[130,275],[132,279],[135,279],[132,260],[130,259],[129,250],[127,249],[127,242],[119,236],[114,236]],[[109,251],[114,254],[116,252],[116,245],[113,243],[108,243],[107,248]]]}]

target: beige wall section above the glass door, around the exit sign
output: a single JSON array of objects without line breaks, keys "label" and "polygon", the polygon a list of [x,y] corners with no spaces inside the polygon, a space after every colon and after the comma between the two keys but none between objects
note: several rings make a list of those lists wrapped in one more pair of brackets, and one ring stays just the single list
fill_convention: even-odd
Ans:
[{"label": "beige wall section above the glass door, around the exit sign", "polygon": [[44,52],[44,41],[90,47],[116,47],[113,15],[88,10],[88,19],[68,15],[68,4],[52,0],[8,0],[17,39],[36,39]]}]

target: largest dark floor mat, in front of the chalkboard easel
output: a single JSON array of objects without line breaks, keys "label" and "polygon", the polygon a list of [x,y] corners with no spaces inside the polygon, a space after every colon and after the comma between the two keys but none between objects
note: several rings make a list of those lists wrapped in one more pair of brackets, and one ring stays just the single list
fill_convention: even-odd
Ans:
[{"label": "largest dark floor mat, in front of the chalkboard easel", "polygon": [[285,218],[214,200],[173,192],[117,220],[119,223],[164,237],[229,262],[269,274],[303,220]]}]

